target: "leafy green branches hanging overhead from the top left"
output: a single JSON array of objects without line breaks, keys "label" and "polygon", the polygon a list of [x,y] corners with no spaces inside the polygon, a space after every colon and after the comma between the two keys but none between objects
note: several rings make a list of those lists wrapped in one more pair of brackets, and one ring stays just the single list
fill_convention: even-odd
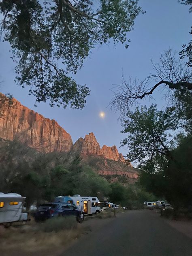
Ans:
[{"label": "leafy green branches hanging overhead from the top left", "polygon": [[[76,73],[96,43],[111,38],[128,47],[127,32],[141,12],[137,0],[2,0],[1,34],[11,45],[15,81],[37,102],[84,107],[90,94]],[[63,68],[60,68],[62,64]]]}]

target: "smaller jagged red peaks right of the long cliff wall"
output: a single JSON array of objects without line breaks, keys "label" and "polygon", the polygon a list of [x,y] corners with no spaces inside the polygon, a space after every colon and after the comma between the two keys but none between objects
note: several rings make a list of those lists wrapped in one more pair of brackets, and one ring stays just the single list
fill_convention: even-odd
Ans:
[{"label": "smaller jagged red peaks right of the long cliff wall", "polygon": [[[125,163],[125,159],[122,154],[119,154],[117,147],[107,147],[104,145],[100,148],[99,143],[96,140],[93,132],[85,135],[85,138],[80,138],[73,145],[73,151],[79,152],[81,156],[101,156],[103,158],[123,162]],[[132,166],[131,164],[129,166]]]}]

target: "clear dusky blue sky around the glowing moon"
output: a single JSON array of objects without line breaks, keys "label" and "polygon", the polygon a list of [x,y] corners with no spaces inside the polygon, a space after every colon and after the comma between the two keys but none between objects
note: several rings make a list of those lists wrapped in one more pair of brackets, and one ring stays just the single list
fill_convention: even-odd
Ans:
[{"label": "clear dusky blue sky around the glowing moon", "polygon": [[[17,86],[14,82],[14,63],[9,52],[9,43],[0,42],[0,92],[10,93],[24,106],[33,109],[43,116],[55,119],[68,133],[73,143],[79,137],[94,132],[100,147],[116,145],[124,156],[127,147],[120,147],[120,141],[126,137],[122,134],[121,123],[117,120],[119,113],[108,107],[115,84],[121,84],[122,72],[125,78],[138,77],[144,79],[152,72],[151,59],[158,62],[160,53],[171,47],[180,51],[183,44],[191,39],[189,34],[192,14],[188,6],[181,5],[177,0],[139,0],[139,5],[146,13],[140,14],[134,30],[128,33],[129,47],[113,43],[97,46],[83,63],[83,67],[73,77],[79,84],[90,87],[91,95],[83,110],[51,108],[49,102],[38,103],[34,107],[35,98],[28,95],[28,89]],[[164,105],[162,94],[154,94],[154,100],[143,100],[149,106],[156,102],[159,107]],[[99,113],[103,111],[105,118]],[[120,147],[120,148],[119,148]]]}]

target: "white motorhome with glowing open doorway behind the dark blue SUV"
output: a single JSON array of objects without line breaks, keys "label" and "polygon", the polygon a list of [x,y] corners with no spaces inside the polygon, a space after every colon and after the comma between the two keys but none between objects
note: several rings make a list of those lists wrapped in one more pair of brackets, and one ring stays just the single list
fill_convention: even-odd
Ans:
[{"label": "white motorhome with glowing open doorway behind the dark blue SUV", "polygon": [[55,203],[72,203],[84,214],[100,213],[100,207],[98,207],[99,200],[95,196],[80,196],[79,194],[73,196],[57,196],[55,197]]}]

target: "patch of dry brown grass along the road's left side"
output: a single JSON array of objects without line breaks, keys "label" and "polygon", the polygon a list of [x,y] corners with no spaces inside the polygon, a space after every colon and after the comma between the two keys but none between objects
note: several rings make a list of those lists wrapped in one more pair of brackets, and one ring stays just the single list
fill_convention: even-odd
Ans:
[{"label": "patch of dry brown grass along the road's left side", "polygon": [[[77,222],[74,225],[73,220],[68,220],[68,224],[64,218],[53,222],[6,228],[0,233],[0,255],[17,255],[14,252],[18,252],[18,255],[43,255],[43,252],[56,255],[58,248],[87,231]],[[51,251],[54,253],[49,254]]]}]

